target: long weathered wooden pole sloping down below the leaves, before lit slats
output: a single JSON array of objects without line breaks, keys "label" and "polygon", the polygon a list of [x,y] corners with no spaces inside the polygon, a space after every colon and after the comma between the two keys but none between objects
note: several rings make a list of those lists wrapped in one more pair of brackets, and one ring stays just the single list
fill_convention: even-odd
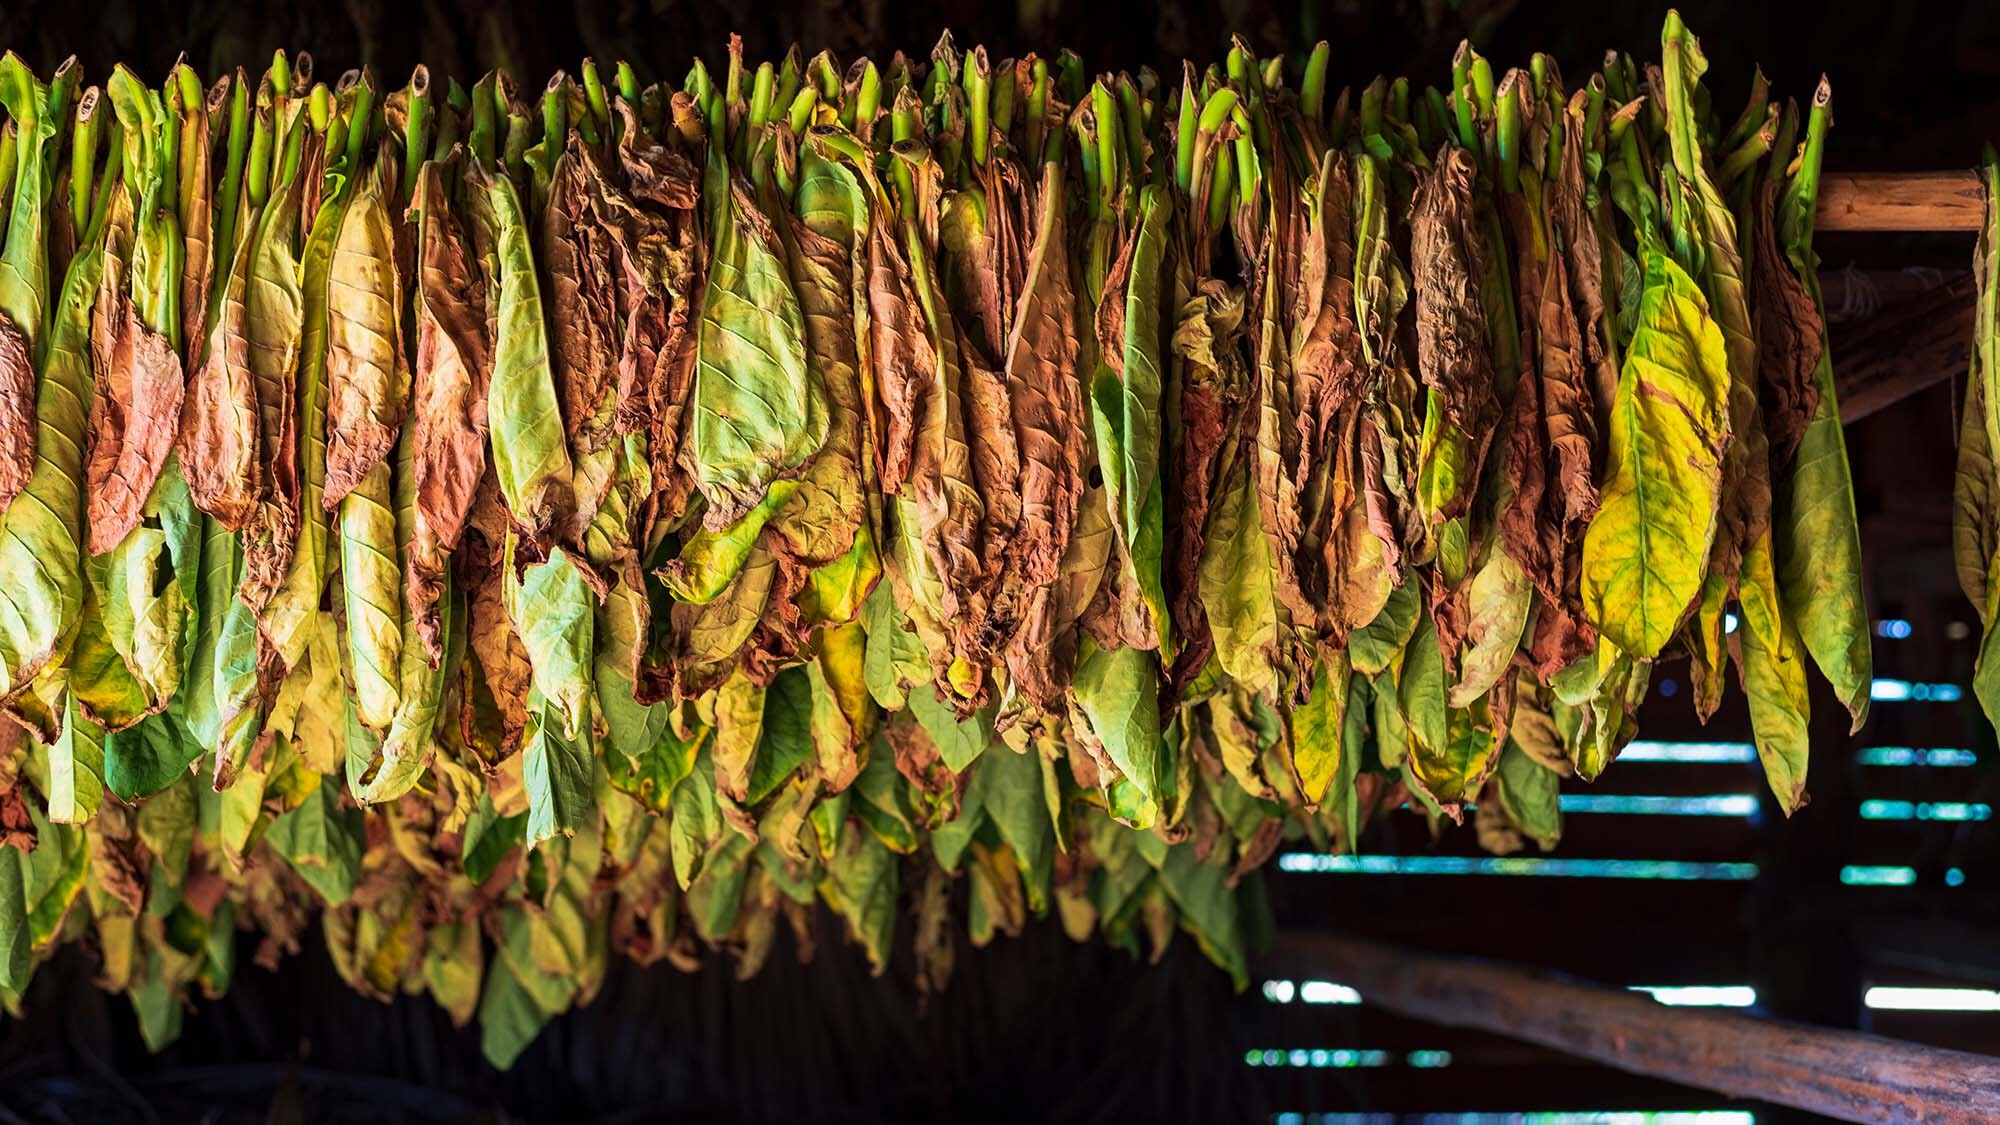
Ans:
[{"label": "long weathered wooden pole sloping down below the leaves, before lit slats", "polygon": [[1666,1007],[1648,997],[1486,961],[1286,931],[1278,971],[1330,979],[1364,1005],[1540,1043],[1636,1075],[1842,1121],[2000,1121],[2000,1059]]}]

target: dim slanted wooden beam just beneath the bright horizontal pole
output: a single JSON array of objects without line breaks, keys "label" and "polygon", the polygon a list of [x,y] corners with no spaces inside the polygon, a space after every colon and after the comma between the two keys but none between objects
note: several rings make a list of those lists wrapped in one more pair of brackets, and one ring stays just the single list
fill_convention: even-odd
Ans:
[{"label": "dim slanted wooden beam just beneath the bright horizontal pole", "polygon": [[1910,294],[1866,320],[1838,324],[1834,392],[1840,422],[1854,422],[1966,372],[1972,348],[1972,272]]}]

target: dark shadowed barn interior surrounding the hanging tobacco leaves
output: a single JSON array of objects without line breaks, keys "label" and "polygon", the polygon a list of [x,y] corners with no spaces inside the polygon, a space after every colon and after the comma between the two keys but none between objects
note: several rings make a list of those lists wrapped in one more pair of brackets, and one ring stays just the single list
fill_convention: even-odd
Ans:
[{"label": "dark shadowed barn interior surrounding the hanging tobacco leaves", "polygon": [[[1712,62],[1718,106],[1734,106],[1762,64],[1778,96],[1834,80],[1830,170],[1964,168],[2000,134],[2000,6],[1682,4]],[[1496,68],[1546,50],[1568,74],[1618,46],[1658,58],[1664,6],[1616,2],[1298,4],[1242,0],[1040,0],[1018,6],[934,0],[824,4],[612,2],[488,6],[346,4],[174,6],[132,0],[0,0],[0,46],[46,72],[78,54],[88,80],[114,62],[156,78],[182,50],[204,74],[260,68],[270,50],[310,48],[322,78],[368,62],[398,80],[424,60],[470,82],[504,62],[520,76],[584,54],[630,58],[676,80],[694,54],[712,66],[732,30],[752,58],[794,38],[842,60],[902,48],[928,54],[942,26],[998,56],[1058,46],[1092,70],[1220,56],[1232,30],[1260,52],[1334,42],[1334,80],[1376,72],[1446,76],[1470,36]],[[1824,236],[1834,362],[1840,340],[1964,274],[1970,236]],[[1962,370],[1962,366],[1960,366]],[[1850,426],[1854,476],[1878,617],[1910,623],[1878,641],[1882,677],[1968,683],[1974,625],[1950,569],[1954,378]],[[1746,739],[1740,697],[1706,731],[1692,725],[1684,671],[1664,667],[1642,715],[1648,739]],[[1268,873],[1280,927],[1340,927],[1418,949],[1560,969],[1610,985],[1750,983],[1770,1015],[2000,1053],[2000,1015],[1868,1013],[1868,983],[2000,987],[2000,865],[1994,825],[1878,823],[1866,797],[1994,801],[1992,731],[1966,703],[1878,705],[1860,737],[1814,697],[1812,805],[1782,821],[1570,817],[1558,857],[1754,861],[1754,883],[1640,883],[1496,877],[1330,877]],[[1858,767],[1856,747],[1972,747],[1954,771]],[[1620,765],[1598,793],[1762,793],[1754,767]],[[1398,815],[1372,853],[1476,855],[1472,829],[1432,841]],[[1848,887],[1846,865],[1908,865],[1916,885]],[[1962,879],[1948,885],[1946,871]],[[962,917],[962,913],[960,913]],[[1728,1107],[1726,1099],[1568,1063],[1492,1037],[1446,1033],[1368,1009],[1272,1005],[1258,985],[1234,997],[1190,943],[1158,965],[1072,945],[1054,923],[958,953],[950,987],[918,1001],[906,963],[882,979],[822,919],[818,957],[788,939],[762,975],[736,983],[720,959],[700,973],[614,961],[590,1009],[554,1021],[506,1075],[476,1031],[454,1031],[428,999],[380,1005],[350,993],[324,949],[276,973],[240,959],[226,999],[200,1003],[182,1039],[148,1055],[122,997],[90,985],[88,955],[66,949],[0,1027],[0,1125],[14,1121],[1270,1121],[1272,1113],[1618,1111]],[[904,949],[908,943],[902,943]],[[1262,981],[1264,975],[1258,975]],[[1442,1071],[1246,1067],[1250,1049],[1450,1049]],[[1738,1105],[1738,1109],[1744,1109]],[[1746,1107],[1758,1121],[1796,1121]],[[1386,1121],[1394,1121],[1388,1117]],[[1412,1117],[1406,1117],[1412,1119]],[[1342,1121],[1342,1119],[1336,1119]]]}]

